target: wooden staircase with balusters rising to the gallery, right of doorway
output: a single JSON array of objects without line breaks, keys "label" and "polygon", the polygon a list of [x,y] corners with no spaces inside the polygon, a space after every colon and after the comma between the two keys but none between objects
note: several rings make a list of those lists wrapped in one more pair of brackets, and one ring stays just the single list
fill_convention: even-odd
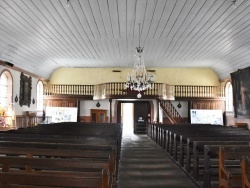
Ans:
[{"label": "wooden staircase with balusters rising to the gallery, right of doorway", "polygon": [[161,100],[160,107],[172,124],[184,123],[184,119],[178,113],[170,101]]}]

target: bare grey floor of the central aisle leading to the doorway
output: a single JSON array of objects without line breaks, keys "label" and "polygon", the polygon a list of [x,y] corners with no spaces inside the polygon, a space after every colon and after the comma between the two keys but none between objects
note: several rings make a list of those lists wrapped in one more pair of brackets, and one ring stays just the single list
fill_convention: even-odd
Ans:
[{"label": "bare grey floor of the central aisle leading to the doorway", "polygon": [[123,135],[118,188],[197,188],[146,135]]}]

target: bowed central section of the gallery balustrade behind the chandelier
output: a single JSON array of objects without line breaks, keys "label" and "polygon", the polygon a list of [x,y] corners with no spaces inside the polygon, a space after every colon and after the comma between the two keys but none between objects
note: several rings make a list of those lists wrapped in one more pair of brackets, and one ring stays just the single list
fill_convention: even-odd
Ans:
[{"label": "bowed central section of the gallery balustrade behind the chandelier", "polygon": [[[105,83],[94,86],[94,100],[113,98],[114,96],[136,97],[137,91],[124,89],[125,82]],[[174,100],[174,86],[154,83],[152,89],[142,91],[143,97],[154,96],[163,100]]]}]

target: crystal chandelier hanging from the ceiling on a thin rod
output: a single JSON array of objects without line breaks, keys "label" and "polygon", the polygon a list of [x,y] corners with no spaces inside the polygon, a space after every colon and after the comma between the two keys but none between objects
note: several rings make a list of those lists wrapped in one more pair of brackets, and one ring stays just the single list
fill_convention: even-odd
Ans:
[{"label": "crystal chandelier hanging from the ceiling on a thin rod", "polygon": [[125,89],[131,89],[138,91],[137,98],[141,98],[141,91],[146,89],[151,89],[153,82],[151,81],[151,76],[148,76],[147,70],[144,64],[143,58],[143,47],[140,47],[140,24],[139,24],[139,47],[136,47],[135,62],[131,74],[128,73],[127,83],[125,84]]}]

